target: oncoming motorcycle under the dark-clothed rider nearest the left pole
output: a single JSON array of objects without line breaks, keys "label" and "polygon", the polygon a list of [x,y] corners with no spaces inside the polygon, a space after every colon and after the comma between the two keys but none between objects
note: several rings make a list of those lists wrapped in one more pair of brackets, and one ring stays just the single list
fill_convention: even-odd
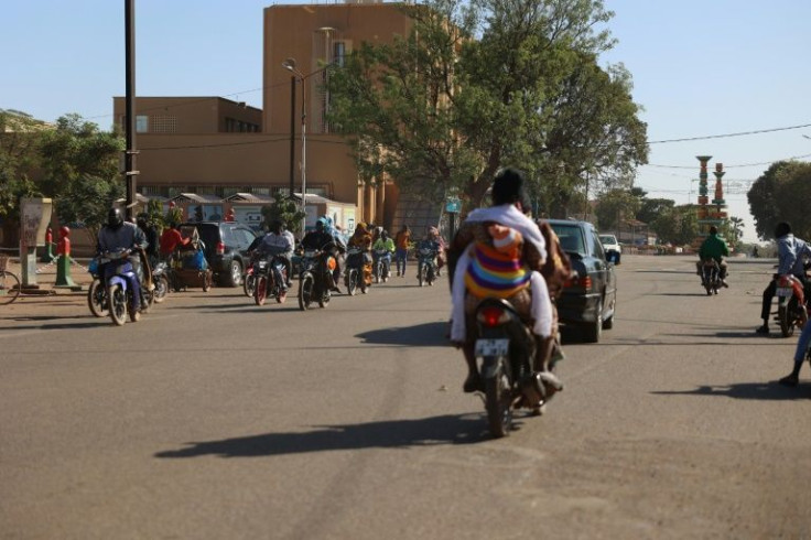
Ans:
[{"label": "oncoming motorcycle under the dark-clothed rider nearest the left pole", "polygon": [[129,255],[128,249],[107,251],[101,253],[98,261],[102,269],[108,312],[116,326],[123,325],[128,314],[133,323],[141,317],[134,303],[138,276],[132,262],[128,260]]}]

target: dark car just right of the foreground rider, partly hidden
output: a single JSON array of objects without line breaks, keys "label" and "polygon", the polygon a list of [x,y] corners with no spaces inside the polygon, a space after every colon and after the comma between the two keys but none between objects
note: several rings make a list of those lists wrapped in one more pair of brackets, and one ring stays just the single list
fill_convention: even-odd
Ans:
[{"label": "dark car just right of the foreground rider, partly hidden", "polygon": [[577,273],[566,282],[558,299],[558,316],[564,325],[580,328],[586,342],[597,343],[603,328],[614,325],[617,303],[614,263],[606,260],[599,235],[591,223],[550,219],[549,225]]}]

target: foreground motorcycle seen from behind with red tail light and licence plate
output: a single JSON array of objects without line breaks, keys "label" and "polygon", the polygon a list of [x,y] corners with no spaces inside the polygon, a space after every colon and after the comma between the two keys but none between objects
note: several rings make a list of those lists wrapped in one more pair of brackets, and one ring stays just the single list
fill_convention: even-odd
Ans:
[{"label": "foreground motorcycle seen from behind with red tail light and licence plate", "polygon": [[548,371],[533,370],[537,342],[509,302],[484,299],[476,307],[474,353],[482,374],[490,433],[509,434],[513,411],[526,408],[539,414],[563,387]]}]

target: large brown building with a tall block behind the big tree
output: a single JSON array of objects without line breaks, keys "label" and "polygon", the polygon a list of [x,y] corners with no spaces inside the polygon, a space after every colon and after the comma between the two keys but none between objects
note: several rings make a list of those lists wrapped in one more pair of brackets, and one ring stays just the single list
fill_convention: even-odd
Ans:
[{"label": "large brown building with a tall block behind the big tree", "polygon": [[[358,181],[348,144],[329,130],[322,84],[327,65],[363,42],[407,35],[411,20],[398,4],[374,2],[272,6],[263,22],[262,110],[220,97],[136,99],[138,192],[272,197],[290,192],[291,176],[300,192],[304,173],[307,194],[391,227],[397,190]],[[113,98],[117,122],[125,110],[125,98]]]}]

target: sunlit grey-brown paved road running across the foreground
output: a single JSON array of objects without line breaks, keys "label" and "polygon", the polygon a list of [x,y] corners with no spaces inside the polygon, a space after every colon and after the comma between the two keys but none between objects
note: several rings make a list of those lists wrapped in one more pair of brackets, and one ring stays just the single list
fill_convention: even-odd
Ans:
[{"label": "sunlit grey-brown paved road running across the foreground", "polygon": [[770,269],[706,298],[693,268],[625,257],[614,330],[498,441],[445,282],[306,313],[197,290],[122,328],[0,306],[0,538],[809,538],[809,375],[770,382],[796,338],[751,332]]}]

